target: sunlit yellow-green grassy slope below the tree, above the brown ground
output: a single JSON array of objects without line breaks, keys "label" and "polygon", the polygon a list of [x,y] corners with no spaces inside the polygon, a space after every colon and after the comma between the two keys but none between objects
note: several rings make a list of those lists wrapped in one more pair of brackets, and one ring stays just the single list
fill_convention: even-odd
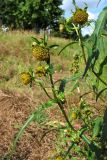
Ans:
[{"label": "sunlit yellow-green grassy slope below the tree, above the brown ground", "polygon": [[[31,36],[41,37],[41,35],[35,35],[33,32],[25,31],[0,32],[0,88],[20,91],[25,89],[19,81],[19,74],[23,71],[28,71],[29,67],[34,68],[37,63],[31,54]],[[78,44],[74,44],[67,47],[60,56],[57,56],[57,53],[69,42],[70,40],[49,37],[50,44],[60,45],[58,49],[52,50],[52,61],[56,64],[56,68],[60,64],[65,71],[70,70],[73,55],[76,53],[81,54],[81,48]],[[100,58],[101,61],[102,59],[103,57]],[[80,68],[82,71],[85,67],[83,64],[81,61]],[[106,81],[106,74],[103,77]]]}]

